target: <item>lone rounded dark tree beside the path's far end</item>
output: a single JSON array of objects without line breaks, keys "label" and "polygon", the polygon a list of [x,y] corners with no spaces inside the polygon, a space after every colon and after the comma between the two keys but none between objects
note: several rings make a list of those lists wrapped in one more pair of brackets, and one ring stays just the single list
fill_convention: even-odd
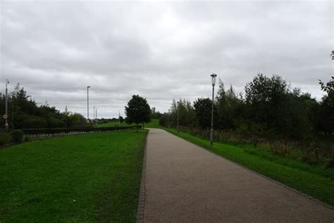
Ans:
[{"label": "lone rounded dark tree beside the path's far end", "polygon": [[149,123],[151,121],[151,108],[146,98],[139,95],[132,95],[132,99],[125,106],[126,123],[136,123],[137,132],[140,123]]}]

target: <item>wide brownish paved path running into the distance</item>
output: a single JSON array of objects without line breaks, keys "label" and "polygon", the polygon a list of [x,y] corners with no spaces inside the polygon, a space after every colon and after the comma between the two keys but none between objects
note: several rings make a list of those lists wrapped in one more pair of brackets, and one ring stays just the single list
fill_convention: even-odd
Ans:
[{"label": "wide brownish paved path running into the distance", "polygon": [[334,222],[334,210],[160,129],[145,190],[144,222]]}]

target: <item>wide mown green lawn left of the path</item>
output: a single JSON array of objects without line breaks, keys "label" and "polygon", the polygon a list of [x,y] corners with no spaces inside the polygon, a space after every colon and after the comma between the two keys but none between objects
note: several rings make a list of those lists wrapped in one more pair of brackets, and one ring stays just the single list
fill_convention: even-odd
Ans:
[{"label": "wide mown green lawn left of the path", "polygon": [[0,222],[135,222],[147,131],[0,150]]}]

